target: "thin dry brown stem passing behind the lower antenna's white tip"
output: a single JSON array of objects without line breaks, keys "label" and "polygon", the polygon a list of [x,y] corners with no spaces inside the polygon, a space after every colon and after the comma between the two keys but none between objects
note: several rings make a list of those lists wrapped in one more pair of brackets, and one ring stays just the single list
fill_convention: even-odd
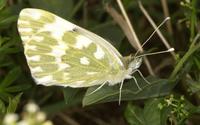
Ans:
[{"label": "thin dry brown stem passing behind the lower antenna's white tip", "polygon": [[[141,9],[141,11],[143,12],[143,14],[146,16],[147,20],[150,22],[150,24],[153,26],[154,29],[157,28],[156,24],[154,23],[154,21],[152,20],[152,18],[149,16],[148,12],[145,10],[145,8],[143,7],[141,1],[138,1],[139,3],[139,7]],[[157,30],[157,34],[160,37],[160,39],[162,40],[163,44],[167,47],[167,49],[170,49],[170,45],[167,42],[167,40],[165,39],[165,37],[162,35],[162,33],[160,32],[160,30]],[[172,56],[174,57],[174,59],[176,58],[176,55],[174,52],[170,52],[172,54]]]}]

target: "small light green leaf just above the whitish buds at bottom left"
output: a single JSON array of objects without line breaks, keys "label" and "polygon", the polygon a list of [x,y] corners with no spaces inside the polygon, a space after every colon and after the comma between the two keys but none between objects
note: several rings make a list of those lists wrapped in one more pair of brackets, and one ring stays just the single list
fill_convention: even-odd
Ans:
[{"label": "small light green leaf just above the whitish buds at bottom left", "polygon": [[12,98],[12,99],[9,98],[9,105],[8,105],[8,108],[7,108],[7,113],[15,112],[21,96],[22,96],[22,93],[19,93],[14,98]]}]

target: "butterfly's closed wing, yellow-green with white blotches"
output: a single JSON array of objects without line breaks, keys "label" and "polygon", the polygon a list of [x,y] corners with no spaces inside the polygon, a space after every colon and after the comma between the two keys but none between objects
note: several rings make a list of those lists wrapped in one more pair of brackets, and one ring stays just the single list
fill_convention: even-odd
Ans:
[{"label": "butterfly's closed wing, yellow-green with white blotches", "polygon": [[124,69],[121,55],[106,40],[50,12],[23,9],[18,31],[37,84],[88,87]]}]

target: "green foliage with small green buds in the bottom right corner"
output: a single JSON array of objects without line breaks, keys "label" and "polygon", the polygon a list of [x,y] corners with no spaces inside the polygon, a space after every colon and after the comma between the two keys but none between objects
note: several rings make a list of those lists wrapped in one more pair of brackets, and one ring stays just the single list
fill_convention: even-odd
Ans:
[{"label": "green foliage with small green buds in the bottom right corner", "polygon": [[170,95],[149,100],[144,108],[129,103],[125,118],[130,125],[168,125],[168,122],[182,125],[194,113],[200,113],[199,107],[186,101],[183,96],[178,98]]}]

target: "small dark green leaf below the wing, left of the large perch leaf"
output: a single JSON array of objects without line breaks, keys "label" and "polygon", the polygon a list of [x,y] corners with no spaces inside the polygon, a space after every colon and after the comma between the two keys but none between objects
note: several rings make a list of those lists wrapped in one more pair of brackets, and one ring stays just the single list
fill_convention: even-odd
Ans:
[{"label": "small dark green leaf below the wing, left of the large perch leaf", "polygon": [[82,101],[85,91],[77,88],[64,88],[63,94],[67,105],[75,105]]}]

